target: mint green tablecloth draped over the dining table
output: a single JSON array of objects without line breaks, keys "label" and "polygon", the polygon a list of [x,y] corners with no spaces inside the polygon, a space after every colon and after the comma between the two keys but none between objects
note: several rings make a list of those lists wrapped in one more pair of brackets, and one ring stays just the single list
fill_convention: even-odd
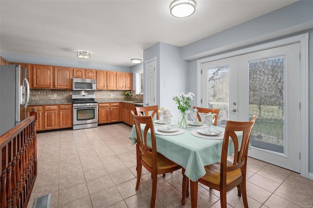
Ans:
[{"label": "mint green tablecloth draped over the dining table", "polygon": [[[155,129],[158,127],[155,125]],[[177,127],[177,125],[173,127]],[[194,129],[196,128],[185,128],[185,132],[179,135],[156,134],[157,152],[185,168],[185,175],[192,181],[196,181],[205,175],[204,166],[221,161],[223,145],[223,139],[204,139],[192,135],[190,132]],[[224,132],[224,128],[220,126],[214,126],[214,129]],[[242,132],[237,133],[237,135],[241,144]],[[134,145],[137,138],[134,125],[129,137]],[[151,146],[151,142],[149,144],[148,141],[148,145]],[[230,141],[228,153],[233,153],[233,149],[233,143]]]}]

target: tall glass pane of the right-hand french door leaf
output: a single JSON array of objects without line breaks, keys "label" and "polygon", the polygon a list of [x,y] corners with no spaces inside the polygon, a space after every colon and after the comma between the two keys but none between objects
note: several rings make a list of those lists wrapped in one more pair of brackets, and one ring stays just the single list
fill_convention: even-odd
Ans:
[{"label": "tall glass pane of the right-hand french door leaf", "polygon": [[284,153],[284,57],[248,62],[249,119],[257,115],[250,143]]}]

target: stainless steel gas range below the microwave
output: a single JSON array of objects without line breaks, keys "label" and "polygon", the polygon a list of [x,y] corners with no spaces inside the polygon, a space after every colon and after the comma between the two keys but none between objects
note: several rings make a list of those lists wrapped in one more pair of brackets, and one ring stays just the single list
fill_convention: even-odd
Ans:
[{"label": "stainless steel gas range below the microwave", "polygon": [[98,126],[98,103],[93,91],[72,91],[73,130]]}]

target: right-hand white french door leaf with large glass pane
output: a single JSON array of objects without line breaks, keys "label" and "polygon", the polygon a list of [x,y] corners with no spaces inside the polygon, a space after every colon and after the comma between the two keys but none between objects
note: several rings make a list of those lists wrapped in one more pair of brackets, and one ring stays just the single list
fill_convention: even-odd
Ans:
[{"label": "right-hand white french door leaf with large glass pane", "polygon": [[257,115],[250,157],[300,172],[300,43],[239,56],[239,120]]}]

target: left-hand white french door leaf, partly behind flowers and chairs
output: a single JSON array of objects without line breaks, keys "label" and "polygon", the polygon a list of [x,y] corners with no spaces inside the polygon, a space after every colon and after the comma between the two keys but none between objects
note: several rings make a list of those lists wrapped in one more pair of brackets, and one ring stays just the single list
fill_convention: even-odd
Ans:
[{"label": "left-hand white french door leaf, partly behind flowers and chairs", "polygon": [[220,108],[218,125],[238,121],[238,57],[202,63],[201,107]]}]

